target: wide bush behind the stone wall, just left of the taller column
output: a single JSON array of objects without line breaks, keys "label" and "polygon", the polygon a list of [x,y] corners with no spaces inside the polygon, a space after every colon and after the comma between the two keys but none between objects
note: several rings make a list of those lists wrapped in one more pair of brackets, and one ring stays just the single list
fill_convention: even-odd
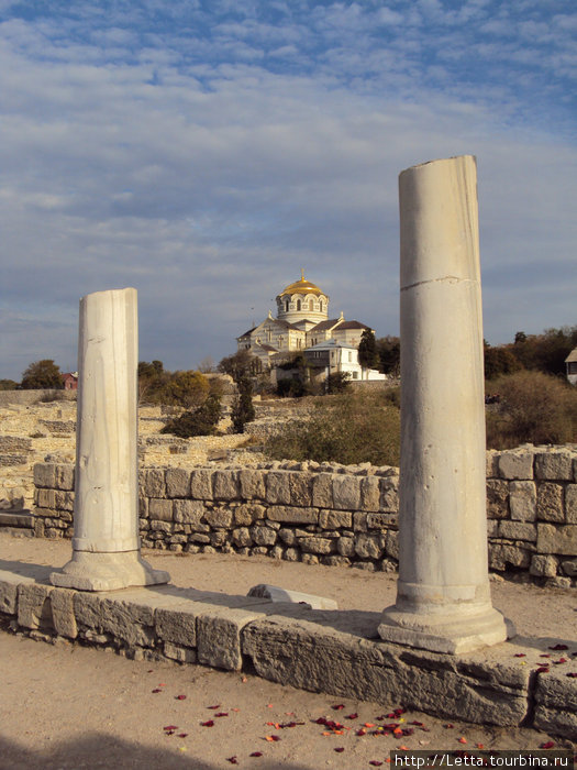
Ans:
[{"label": "wide bush behind the stone wall, just left of the taller column", "polygon": [[319,398],[310,419],[286,426],[265,451],[274,459],[398,465],[399,410],[386,404],[381,392]]}]

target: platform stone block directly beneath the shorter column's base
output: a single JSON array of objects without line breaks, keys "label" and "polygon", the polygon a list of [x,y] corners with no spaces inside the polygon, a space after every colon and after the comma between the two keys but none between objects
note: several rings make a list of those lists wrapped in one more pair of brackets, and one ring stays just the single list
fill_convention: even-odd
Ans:
[{"label": "platform stone block directly beneath the shorter column's base", "polygon": [[154,647],[154,610],[151,606],[76,592],[74,612],[77,624],[85,629],[110,634],[131,647]]}]

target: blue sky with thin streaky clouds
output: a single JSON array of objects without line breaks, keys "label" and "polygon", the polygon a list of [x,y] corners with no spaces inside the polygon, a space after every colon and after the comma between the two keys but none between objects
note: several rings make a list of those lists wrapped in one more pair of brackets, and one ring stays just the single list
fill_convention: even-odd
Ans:
[{"label": "blue sky with thin streaky clouds", "polygon": [[0,0],[0,377],[219,361],[306,276],[398,333],[398,174],[477,156],[485,337],[575,324],[574,0]]}]

